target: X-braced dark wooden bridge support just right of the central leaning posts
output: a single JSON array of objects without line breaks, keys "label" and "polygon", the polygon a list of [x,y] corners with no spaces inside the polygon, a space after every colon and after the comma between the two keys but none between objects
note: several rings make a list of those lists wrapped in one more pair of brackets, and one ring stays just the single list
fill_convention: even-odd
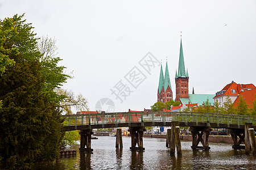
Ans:
[{"label": "X-braced dark wooden bridge support just right of the central leaning posts", "polygon": [[[209,150],[209,133],[210,127],[190,127],[190,131],[192,134],[192,149],[199,149],[199,150]],[[202,146],[198,146],[199,142],[201,142]]]}]

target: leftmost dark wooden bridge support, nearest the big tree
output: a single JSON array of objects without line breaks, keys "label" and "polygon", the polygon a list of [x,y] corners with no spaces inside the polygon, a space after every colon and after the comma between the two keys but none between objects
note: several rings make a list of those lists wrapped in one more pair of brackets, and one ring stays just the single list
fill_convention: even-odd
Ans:
[{"label": "leftmost dark wooden bridge support, nearest the big tree", "polygon": [[86,129],[86,130],[80,130],[80,151],[83,152],[93,152],[93,149],[91,148],[92,143],[92,129]]}]

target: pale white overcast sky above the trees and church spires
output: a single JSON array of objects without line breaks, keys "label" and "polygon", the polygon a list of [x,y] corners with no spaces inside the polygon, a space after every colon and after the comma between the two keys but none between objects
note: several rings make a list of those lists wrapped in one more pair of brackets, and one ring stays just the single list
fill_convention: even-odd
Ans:
[{"label": "pale white overcast sky above the trees and church spires", "polygon": [[[61,65],[75,76],[64,88],[85,96],[91,111],[104,97],[118,112],[156,102],[160,66],[150,75],[139,65],[148,52],[163,60],[163,71],[168,57],[175,98],[180,31],[190,93],[215,94],[232,80],[256,85],[254,0],[0,0],[0,19],[23,13],[38,36],[55,37]],[[134,66],[147,76],[137,89],[124,78]],[[119,80],[133,91],[123,103],[110,91]]]}]

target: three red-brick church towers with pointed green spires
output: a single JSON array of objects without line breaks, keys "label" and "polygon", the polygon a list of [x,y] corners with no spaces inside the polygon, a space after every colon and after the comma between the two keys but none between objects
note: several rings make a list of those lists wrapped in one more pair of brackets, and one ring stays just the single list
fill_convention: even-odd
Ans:
[{"label": "three red-brick church towers with pointed green spires", "polygon": [[[183,57],[182,42],[180,40],[180,57],[179,69],[175,74],[176,98],[175,101],[180,101],[180,98],[188,98],[188,70],[185,72],[185,64]],[[160,78],[158,85],[158,101],[166,103],[173,100],[170,75],[166,61],[166,74],[163,76],[163,68],[161,63]]]}]

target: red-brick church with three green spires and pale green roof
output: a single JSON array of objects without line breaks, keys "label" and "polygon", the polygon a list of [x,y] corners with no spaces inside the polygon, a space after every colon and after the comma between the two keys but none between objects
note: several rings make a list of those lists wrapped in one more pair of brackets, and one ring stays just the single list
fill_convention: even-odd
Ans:
[{"label": "red-brick church with three green spires and pale green roof", "polygon": [[[188,88],[188,70],[185,70],[185,63],[183,57],[183,48],[182,48],[182,41],[180,39],[180,56],[179,56],[179,67],[176,70],[175,74],[175,92],[176,97],[175,101],[180,101],[181,104],[199,104],[203,105],[204,101],[209,99],[209,102],[213,105],[214,94],[195,94],[194,89],[192,94],[189,94]],[[172,96],[172,88],[171,88],[171,81],[170,75],[168,71],[168,64],[166,61],[166,71],[163,76],[163,67],[161,63],[160,69],[160,77],[159,77],[159,84],[158,84],[158,101],[166,103],[166,101],[174,100]]]}]

